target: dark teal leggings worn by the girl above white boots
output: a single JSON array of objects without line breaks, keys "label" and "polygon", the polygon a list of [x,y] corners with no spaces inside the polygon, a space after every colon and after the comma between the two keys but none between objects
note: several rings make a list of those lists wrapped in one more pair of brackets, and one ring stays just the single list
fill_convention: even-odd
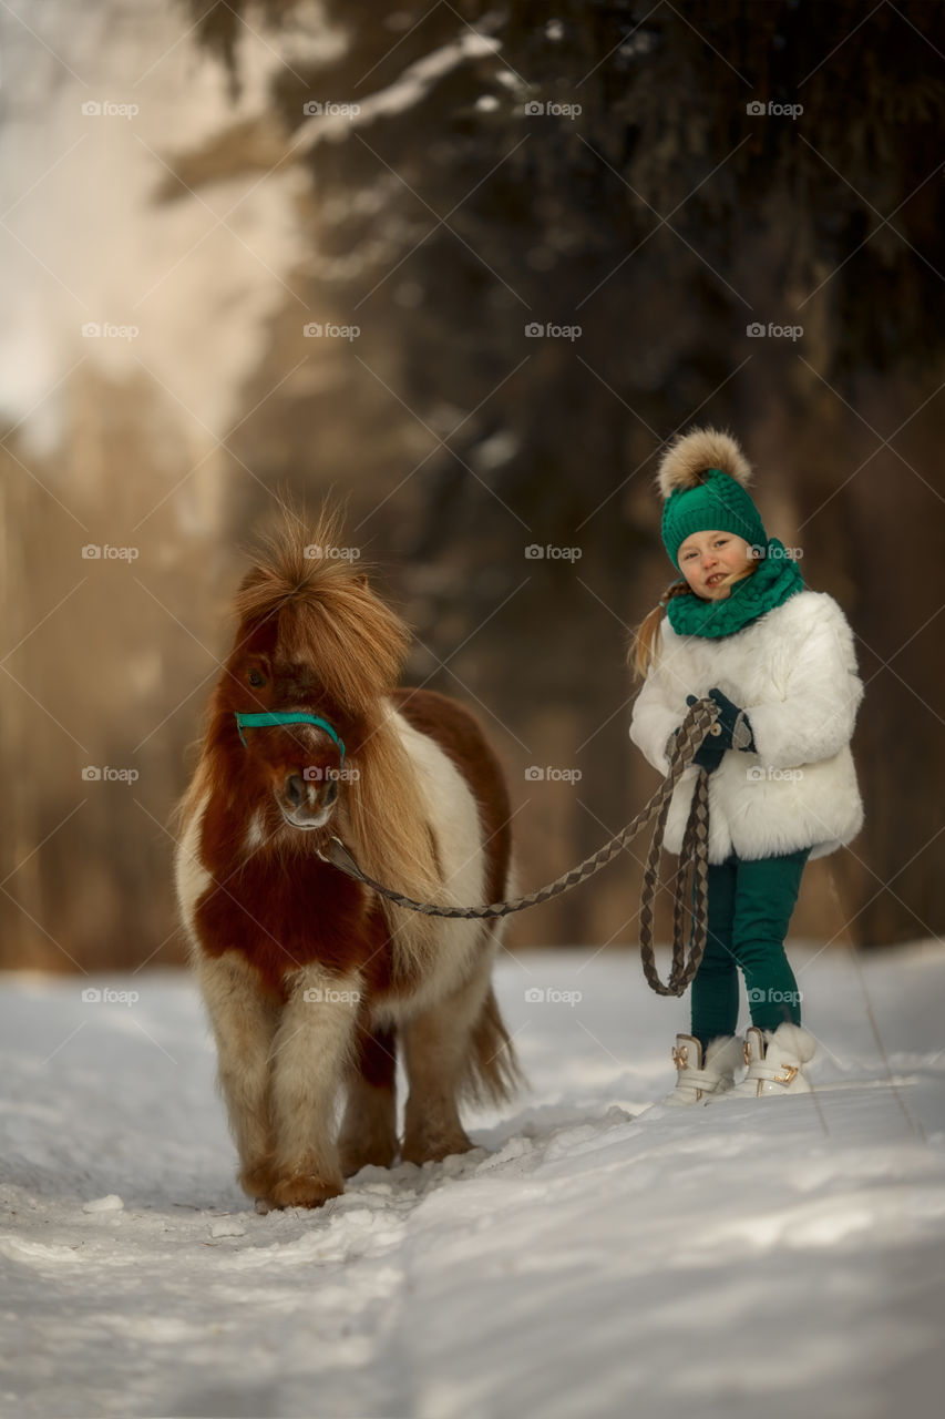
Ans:
[{"label": "dark teal leggings worn by the girl above white boots", "polygon": [[742,861],[735,853],[708,868],[708,938],[692,981],[692,1034],[702,1049],[738,1027],[738,971],[752,1025],[800,1025],[800,992],[785,954],[788,924],[810,853]]}]

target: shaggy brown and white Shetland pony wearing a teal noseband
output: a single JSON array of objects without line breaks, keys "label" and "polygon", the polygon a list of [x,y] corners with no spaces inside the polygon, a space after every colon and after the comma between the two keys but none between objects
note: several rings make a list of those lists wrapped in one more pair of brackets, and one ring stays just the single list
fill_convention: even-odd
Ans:
[{"label": "shaggy brown and white Shetland pony wearing a teal noseband", "polygon": [[460,1100],[521,1080],[491,986],[501,921],[389,905],[316,853],[336,833],[369,876],[440,905],[511,890],[499,763],[461,705],[397,688],[407,627],[332,555],[338,531],[336,512],[308,535],[287,518],[244,578],[179,806],[177,900],[258,1210],[316,1208],[397,1152],[464,1152]]}]

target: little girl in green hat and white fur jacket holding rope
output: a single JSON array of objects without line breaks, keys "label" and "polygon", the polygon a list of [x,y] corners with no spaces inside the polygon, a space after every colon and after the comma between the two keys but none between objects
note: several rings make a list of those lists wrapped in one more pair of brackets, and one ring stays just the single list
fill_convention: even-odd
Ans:
[{"label": "little girl in green hat and white fur jacket holding rope", "polygon": [[[853,633],[826,592],[805,589],[769,538],[732,437],[698,429],[657,474],[663,542],[682,573],[636,634],[644,680],[630,738],[665,775],[690,705],[719,717],[670,803],[664,846],[678,853],[698,769],[709,773],[708,938],[692,981],[691,1033],[678,1034],[671,1104],[809,1091],[814,1040],[785,954],[807,860],[851,841],[863,802],[850,736],[863,698]],[[665,610],[665,616],[663,612]],[[738,1025],[738,971],[752,1026]],[[735,1084],[745,1059],[748,1074]]]}]

